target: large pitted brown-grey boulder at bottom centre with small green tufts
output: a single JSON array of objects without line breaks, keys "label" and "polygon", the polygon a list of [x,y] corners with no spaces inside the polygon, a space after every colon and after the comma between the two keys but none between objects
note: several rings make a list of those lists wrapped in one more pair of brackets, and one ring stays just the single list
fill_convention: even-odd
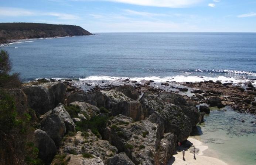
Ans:
[{"label": "large pitted brown-grey boulder at bottom centre with small green tufts", "polygon": [[104,137],[120,152],[124,151],[136,165],[159,162],[160,133],[155,123],[147,120],[133,122],[130,117],[117,115],[110,119]]}]

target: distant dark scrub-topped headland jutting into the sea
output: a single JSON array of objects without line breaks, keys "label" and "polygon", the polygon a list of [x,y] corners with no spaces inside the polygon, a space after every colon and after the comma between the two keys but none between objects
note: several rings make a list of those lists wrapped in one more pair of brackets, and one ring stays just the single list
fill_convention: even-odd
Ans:
[{"label": "distant dark scrub-topped headland jutting into the sea", "polygon": [[0,23],[0,43],[10,40],[92,35],[80,26],[37,23]]}]

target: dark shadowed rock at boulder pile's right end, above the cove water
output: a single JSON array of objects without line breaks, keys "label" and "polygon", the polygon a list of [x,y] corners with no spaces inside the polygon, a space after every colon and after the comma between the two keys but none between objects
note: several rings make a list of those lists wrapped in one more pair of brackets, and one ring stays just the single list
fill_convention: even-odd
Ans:
[{"label": "dark shadowed rock at boulder pile's right end, above the cove water", "polygon": [[199,111],[197,107],[187,107],[187,106],[180,106],[182,111],[188,118],[190,119],[190,123],[192,126],[196,126],[199,119]]}]

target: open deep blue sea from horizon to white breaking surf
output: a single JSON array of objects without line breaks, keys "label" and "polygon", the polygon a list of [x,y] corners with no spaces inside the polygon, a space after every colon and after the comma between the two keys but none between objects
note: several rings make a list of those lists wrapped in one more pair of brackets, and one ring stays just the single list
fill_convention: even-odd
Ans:
[{"label": "open deep blue sea from horizon to white breaking surf", "polygon": [[23,40],[1,49],[23,80],[256,78],[256,33],[97,34]]}]

